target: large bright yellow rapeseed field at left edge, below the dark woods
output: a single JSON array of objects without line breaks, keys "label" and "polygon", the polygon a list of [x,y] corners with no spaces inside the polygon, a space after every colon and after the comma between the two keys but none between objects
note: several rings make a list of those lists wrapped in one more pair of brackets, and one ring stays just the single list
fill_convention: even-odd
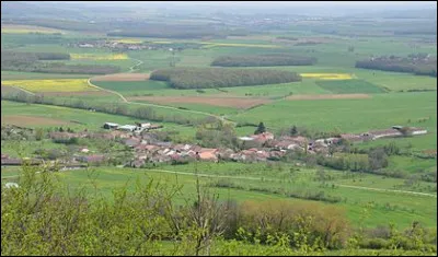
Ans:
[{"label": "large bright yellow rapeseed field at left edge, below the dark woods", "polygon": [[2,85],[14,85],[31,92],[83,92],[97,91],[88,84],[87,79],[56,79],[56,80],[7,80]]}]

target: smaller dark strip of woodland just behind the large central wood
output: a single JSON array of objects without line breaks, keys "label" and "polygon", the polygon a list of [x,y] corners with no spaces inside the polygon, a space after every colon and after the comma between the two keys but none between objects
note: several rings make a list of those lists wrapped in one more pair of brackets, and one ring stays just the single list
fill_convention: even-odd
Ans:
[{"label": "smaller dark strip of woodland just behind the large central wood", "polygon": [[314,57],[292,56],[288,54],[253,55],[253,56],[221,56],[211,66],[222,67],[263,67],[263,66],[312,66]]}]

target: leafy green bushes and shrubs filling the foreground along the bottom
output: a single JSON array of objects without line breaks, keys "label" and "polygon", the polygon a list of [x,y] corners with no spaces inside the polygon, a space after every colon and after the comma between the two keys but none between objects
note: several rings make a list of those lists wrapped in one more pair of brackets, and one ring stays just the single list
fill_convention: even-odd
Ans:
[{"label": "leafy green bushes and shrubs filling the foreground along the bottom", "polygon": [[[434,231],[417,222],[403,233],[391,227],[388,233],[359,230],[355,235],[339,207],[220,201],[198,179],[195,196],[185,197],[183,205],[174,202],[180,185],[153,180],[137,182],[132,191],[115,189],[111,200],[95,188],[90,198],[87,188],[66,194],[51,168],[24,166],[20,187],[1,188],[1,255],[223,256],[249,255],[243,250],[249,246],[258,255],[312,255],[360,246],[436,252],[436,230],[434,241]],[[369,242],[374,238],[383,244]],[[171,243],[162,246],[162,241]]]}]

